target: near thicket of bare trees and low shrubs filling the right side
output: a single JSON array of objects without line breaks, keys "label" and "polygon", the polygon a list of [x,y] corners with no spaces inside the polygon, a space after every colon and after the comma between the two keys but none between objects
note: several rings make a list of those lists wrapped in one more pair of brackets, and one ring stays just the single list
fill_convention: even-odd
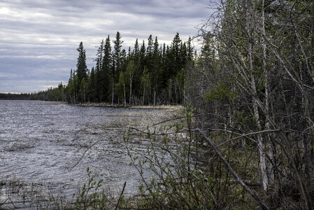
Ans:
[{"label": "near thicket of bare trees and low shrubs filling the right side", "polygon": [[169,125],[185,131],[180,149],[171,132],[147,131],[175,162],[148,158],[159,180],[144,188],[149,207],[314,209],[313,1],[210,8],[201,52],[185,66],[184,126]]}]

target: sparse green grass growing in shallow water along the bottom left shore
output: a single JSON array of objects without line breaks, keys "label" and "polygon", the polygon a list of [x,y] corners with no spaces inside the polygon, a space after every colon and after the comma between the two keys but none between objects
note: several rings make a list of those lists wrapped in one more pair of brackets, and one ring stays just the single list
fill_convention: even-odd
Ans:
[{"label": "sparse green grass growing in shallow water along the bottom left shore", "polygon": [[[61,189],[51,190],[44,183],[26,183],[16,177],[1,183],[0,209],[114,209],[129,205],[123,191],[113,195],[87,168],[88,179],[73,197],[66,197]],[[58,193],[59,192],[59,193]]]}]

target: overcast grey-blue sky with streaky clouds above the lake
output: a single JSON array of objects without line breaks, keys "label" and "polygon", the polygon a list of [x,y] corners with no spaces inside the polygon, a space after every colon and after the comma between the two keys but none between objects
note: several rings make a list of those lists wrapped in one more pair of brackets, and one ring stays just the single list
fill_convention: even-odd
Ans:
[{"label": "overcast grey-blue sky with streaky clouds above the lake", "polygon": [[[101,40],[117,31],[123,48],[150,34],[186,41],[209,16],[208,0],[0,0],[0,92],[35,92],[67,83],[83,41],[94,66]],[[113,44],[112,44],[113,45]]]}]

